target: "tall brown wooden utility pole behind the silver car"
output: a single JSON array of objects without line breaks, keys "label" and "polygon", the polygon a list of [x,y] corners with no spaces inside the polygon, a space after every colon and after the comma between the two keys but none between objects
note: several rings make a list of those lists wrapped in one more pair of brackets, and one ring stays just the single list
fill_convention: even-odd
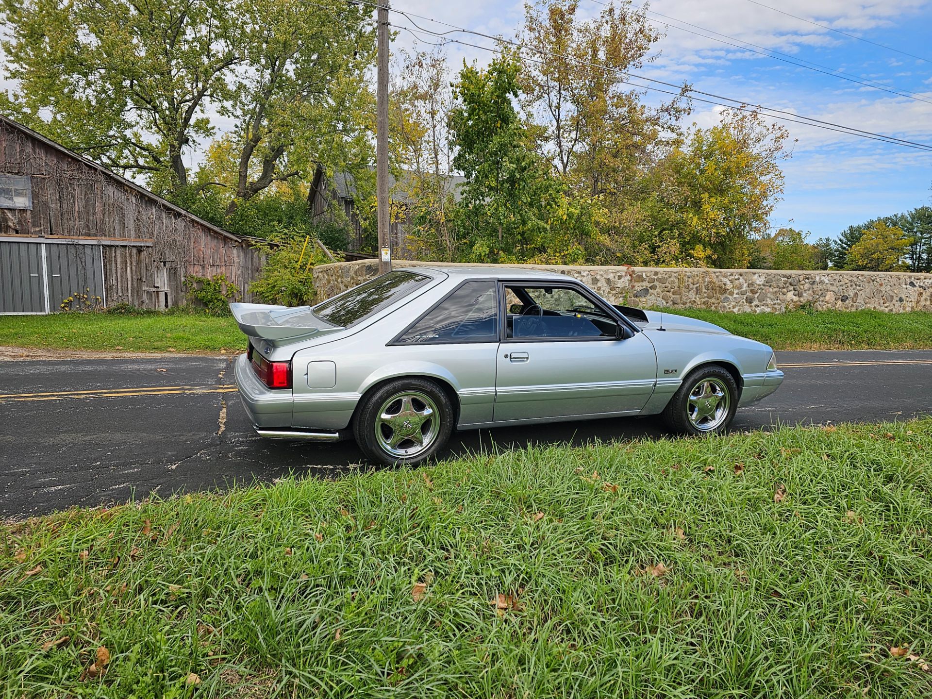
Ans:
[{"label": "tall brown wooden utility pole behind the silver car", "polygon": [[378,0],[376,89],[376,217],[378,273],[391,272],[389,239],[389,0]]}]

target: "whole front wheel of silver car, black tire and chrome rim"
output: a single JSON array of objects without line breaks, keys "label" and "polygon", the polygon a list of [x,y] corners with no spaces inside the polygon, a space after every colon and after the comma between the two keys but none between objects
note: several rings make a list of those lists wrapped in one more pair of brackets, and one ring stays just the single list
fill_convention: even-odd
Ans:
[{"label": "whole front wheel of silver car, black tire and chrome rim", "polygon": [[738,409],[738,385],[718,364],[700,366],[683,379],[663,413],[667,427],[682,434],[720,434]]}]

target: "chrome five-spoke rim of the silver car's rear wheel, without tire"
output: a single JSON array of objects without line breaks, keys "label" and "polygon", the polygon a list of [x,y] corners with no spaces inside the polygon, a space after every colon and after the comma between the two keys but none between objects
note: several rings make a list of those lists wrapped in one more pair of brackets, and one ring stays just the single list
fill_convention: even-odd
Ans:
[{"label": "chrome five-spoke rim of the silver car's rear wheel, without tire", "polygon": [[391,395],[378,409],[376,442],[387,454],[410,459],[427,451],[440,432],[437,405],[420,391]]}]

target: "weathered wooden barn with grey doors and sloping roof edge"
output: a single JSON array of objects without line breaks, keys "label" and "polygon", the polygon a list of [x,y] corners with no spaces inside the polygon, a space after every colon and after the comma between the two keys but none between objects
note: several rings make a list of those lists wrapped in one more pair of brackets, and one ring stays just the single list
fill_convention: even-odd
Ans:
[{"label": "weathered wooden barn with grey doors and sloping roof edge", "polygon": [[0,117],[0,313],[54,312],[74,292],[169,308],[189,275],[225,274],[246,295],[262,261],[249,240]]}]

